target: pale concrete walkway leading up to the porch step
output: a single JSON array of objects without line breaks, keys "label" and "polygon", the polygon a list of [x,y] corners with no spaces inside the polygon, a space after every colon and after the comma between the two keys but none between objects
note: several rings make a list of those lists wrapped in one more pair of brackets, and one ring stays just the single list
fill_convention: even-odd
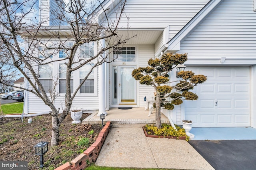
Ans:
[{"label": "pale concrete walkway leading up to the porch step", "polygon": [[214,168],[185,140],[147,138],[141,127],[111,128],[95,163],[126,168]]}]

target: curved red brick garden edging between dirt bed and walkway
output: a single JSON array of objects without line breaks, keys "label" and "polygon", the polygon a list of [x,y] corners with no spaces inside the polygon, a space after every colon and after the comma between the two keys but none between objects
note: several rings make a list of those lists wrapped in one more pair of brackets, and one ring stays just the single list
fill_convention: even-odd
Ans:
[{"label": "curved red brick garden edging between dirt bed and walkway", "polygon": [[[59,166],[55,170],[82,170],[86,168],[88,163],[95,162],[99,156],[100,149],[102,148],[108,132],[110,130],[110,121],[106,123],[104,128],[100,131],[100,134],[96,141],[86,149],[82,154],[78,155],[71,162],[66,162],[65,164]],[[89,162],[88,162],[89,161]]]}]

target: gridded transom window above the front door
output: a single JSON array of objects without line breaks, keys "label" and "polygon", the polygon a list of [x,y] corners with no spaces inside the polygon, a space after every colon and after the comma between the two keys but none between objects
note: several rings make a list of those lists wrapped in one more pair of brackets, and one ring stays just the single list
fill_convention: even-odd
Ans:
[{"label": "gridded transom window above the front door", "polygon": [[116,47],[113,51],[113,58],[116,62],[136,61],[135,47]]}]

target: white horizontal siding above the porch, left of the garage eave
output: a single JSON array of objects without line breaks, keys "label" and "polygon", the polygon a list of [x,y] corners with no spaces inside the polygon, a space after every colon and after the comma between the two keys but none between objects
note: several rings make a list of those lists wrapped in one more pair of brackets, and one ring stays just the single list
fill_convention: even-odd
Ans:
[{"label": "white horizontal siding above the porch, left of the garage eave", "polygon": [[[170,28],[178,32],[191,20],[209,0],[128,0],[125,15],[119,27],[130,28]],[[109,14],[109,20],[116,20],[116,12]]]}]

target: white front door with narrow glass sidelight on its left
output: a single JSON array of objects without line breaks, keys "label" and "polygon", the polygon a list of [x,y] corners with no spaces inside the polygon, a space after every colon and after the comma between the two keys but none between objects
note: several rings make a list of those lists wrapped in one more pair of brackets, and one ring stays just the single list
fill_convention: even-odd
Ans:
[{"label": "white front door with narrow glass sidelight on its left", "polygon": [[135,66],[114,66],[112,104],[136,105],[136,81],[132,77]]}]

